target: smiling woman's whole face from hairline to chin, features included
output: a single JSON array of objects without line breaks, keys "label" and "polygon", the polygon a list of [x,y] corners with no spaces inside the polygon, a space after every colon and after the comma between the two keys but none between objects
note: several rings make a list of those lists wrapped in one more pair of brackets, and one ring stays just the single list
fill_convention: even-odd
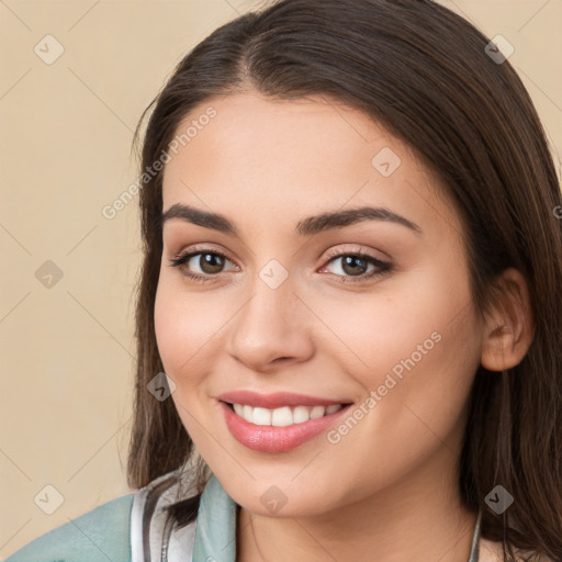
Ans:
[{"label": "smiling woman's whole face from hairline to chin, features included", "polygon": [[456,485],[482,327],[437,179],[323,97],[214,98],[189,126],[165,169],[155,324],[227,493],[295,516]]}]

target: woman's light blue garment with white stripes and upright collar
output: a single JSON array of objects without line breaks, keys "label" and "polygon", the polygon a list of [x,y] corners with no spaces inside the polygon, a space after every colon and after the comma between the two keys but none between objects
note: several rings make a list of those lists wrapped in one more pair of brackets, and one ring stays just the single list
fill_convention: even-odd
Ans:
[{"label": "woman's light blue garment with white stripes and upright collar", "polygon": [[[166,525],[165,507],[195,494],[192,481],[165,474],[46,532],[4,562],[235,562],[237,504],[214,475],[196,519],[181,529]],[[480,516],[468,562],[479,560]]]}]

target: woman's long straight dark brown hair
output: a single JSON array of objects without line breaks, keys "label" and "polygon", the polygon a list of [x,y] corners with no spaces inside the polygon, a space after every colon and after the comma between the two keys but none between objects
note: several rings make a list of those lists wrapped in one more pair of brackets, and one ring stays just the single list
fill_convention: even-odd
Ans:
[{"label": "woman's long straight dark brown hair", "polygon": [[[342,24],[341,22],[345,22]],[[180,121],[213,95],[254,88],[296,99],[326,94],[404,139],[447,187],[464,224],[473,303],[486,314],[508,267],[529,283],[535,339],[515,368],[475,373],[459,486],[482,508],[482,536],[562,559],[561,192],[533,104],[490,40],[429,0],[280,0],[221,26],[178,65],[153,109],[142,170]],[[139,125],[140,125],[139,122]],[[137,127],[138,135],[138,127]],[[135,136],[137,136],[135,135]],[[192,453],[171,400],[148,382],[164,370],[154,303],[162,240],[162,173],[140,190],[144,263],[136,310],[137,381],[128,481],[142,487]],[[502,516],[485,497],[515,498]],[[199,490],[204,485],[200,481]],[[194,512],[187,518],[194,517]]]}]

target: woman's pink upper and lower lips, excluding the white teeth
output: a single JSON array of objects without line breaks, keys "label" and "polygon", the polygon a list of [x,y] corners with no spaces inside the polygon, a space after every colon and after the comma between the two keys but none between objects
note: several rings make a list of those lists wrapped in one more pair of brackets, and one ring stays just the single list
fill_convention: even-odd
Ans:
[{"label": "woman's pink upper and lower lips, excluding the white teeth", "polygon": [[329,406],[334,404],[346,404],[347,402],[337,402],[289,393],[265,395],[250,391],[226,393],[221,395],[218,398],[222,401],[220,404],[225,417],[226,426],[233,437],[249,449],[261,452],[286,452],[299,447],[305,441],[308,441],[318,434],[325,431],[334,424],[336,418],[340,417],[350,407],[349,404],[334,414],[328,414],[316,419],[310,419],[302,424],[293,424],[284,427],[258,426],[246,422],[246,419],[235,414],[231,407],[225,404],[225,402],[231,404],[247,404],[254,407],[259,406],[270,409],[282,406]]}]

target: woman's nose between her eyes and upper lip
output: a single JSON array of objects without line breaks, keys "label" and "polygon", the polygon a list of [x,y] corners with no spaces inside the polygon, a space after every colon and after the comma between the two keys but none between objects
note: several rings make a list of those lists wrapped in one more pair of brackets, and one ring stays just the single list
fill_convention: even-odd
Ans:
[{"label": "woman's nose between her eyes and upper lip", "polygon": [[229,338],[231,355],[248,369],[270,372],[314,353],[313,315],[294,290],[291,277],[273,289],[256,276],[250,297],[233,318]]}]

